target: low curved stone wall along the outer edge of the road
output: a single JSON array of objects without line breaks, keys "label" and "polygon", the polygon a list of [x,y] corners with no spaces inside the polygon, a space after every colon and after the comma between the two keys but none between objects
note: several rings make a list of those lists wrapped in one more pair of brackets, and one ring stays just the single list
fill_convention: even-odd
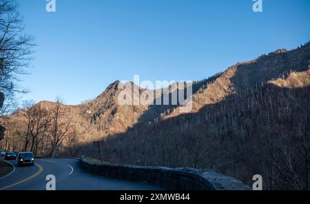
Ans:
[{"label": "low curved stone wall along the outer edge of the road", "polygon": [[83,170],[114,179],[147,182],[168,190],[251,190],[240,181],[211,170],[101,164],[80,160]]}]

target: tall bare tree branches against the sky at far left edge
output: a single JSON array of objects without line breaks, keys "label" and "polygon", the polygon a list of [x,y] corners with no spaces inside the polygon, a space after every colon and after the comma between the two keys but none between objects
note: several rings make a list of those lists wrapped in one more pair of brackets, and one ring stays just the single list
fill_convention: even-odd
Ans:
[{"label": "tall bare tree branches against the sky at far left edge", "polygon": [[[0,123],[3,115],[15,108],[14,92],[26,92],[17,85],[18,75],[25,74],[23,68],[30,63],[34,45],[33,37],[24,32],[23,19],[17,8],[15,0],[0,1]],[[6,96],[4,105],[2,96]],[[0,125],[0,139],[4,130]]]}]

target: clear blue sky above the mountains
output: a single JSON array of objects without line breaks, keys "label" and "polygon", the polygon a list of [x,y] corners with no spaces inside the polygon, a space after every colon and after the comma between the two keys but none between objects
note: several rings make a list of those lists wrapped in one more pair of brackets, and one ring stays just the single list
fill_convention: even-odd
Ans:
[{"label": "clear blue sky above the mountains", "polygon": [[309,0],[18,0],[38,44],[22,100],[79,104],[119,80],[199,80],[310,40]]}]

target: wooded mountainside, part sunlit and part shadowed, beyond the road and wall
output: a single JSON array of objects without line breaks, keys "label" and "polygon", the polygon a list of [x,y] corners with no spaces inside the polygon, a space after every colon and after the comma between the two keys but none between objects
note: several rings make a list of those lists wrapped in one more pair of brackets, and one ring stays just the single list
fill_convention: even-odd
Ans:
[{"label": "wooded mountainside, part sunlit and part shadowed, beyond the road and wall", "polygon": [[[120,105],[116,81],[81,105],[25,105],[4,123],[6,149],[87,154],[135,165],[210,168],[265,189],[309,190],[310,43],[277,50],[193,83],[193,109]],[[176,88],[143,90],[156,96]],[[58,114],[57,114],[58,113]]]}]

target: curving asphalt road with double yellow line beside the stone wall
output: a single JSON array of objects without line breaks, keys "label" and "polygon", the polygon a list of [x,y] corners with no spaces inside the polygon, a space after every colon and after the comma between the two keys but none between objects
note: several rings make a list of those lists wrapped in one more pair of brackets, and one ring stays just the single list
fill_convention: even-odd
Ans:
[{"label": "curving asphalt road with double yellow line beside the stone wall", "polygon": [[[1,158],[3,159],[3,158]],[[160,187],[96,176],[81,170],[76,159],[35,159],[34,166],[18,167],[0,178],[0,190],[45,190],[46,176],[56,177],[56,190],[162,190]]]}]

